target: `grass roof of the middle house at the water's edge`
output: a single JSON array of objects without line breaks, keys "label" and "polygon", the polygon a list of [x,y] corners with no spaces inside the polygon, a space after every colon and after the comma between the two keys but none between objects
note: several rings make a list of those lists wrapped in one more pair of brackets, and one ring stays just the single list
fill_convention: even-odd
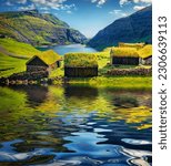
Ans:
[{"label": "grass roof of the middle house at the water's edge", "polygon": [[91,68],[98,66],[97,54],[94,53],[67,53],[64,54],[64,66]]}]

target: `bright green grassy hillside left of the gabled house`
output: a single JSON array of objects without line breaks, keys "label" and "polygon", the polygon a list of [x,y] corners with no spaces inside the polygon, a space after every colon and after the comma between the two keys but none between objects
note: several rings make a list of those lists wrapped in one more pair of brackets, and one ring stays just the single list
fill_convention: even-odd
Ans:
[{"label": "bright green grassy hillside left of the gabled house", "polygon": [[26,70],[27,60],[41,53],[30,44],[12,39],[0,39],[0,77]]}]

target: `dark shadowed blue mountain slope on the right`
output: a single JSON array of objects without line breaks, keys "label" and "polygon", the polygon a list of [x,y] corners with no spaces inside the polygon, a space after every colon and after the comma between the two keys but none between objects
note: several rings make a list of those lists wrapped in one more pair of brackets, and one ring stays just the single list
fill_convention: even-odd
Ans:
[{"label": "dark shadowed blue mountain slope on the right", "polygon": [[135,13],[115,20],[99,31],[88,45],[102,50],[118,45],[118,42],[148,42],[152,43],[152,7],[147,7]]}]

